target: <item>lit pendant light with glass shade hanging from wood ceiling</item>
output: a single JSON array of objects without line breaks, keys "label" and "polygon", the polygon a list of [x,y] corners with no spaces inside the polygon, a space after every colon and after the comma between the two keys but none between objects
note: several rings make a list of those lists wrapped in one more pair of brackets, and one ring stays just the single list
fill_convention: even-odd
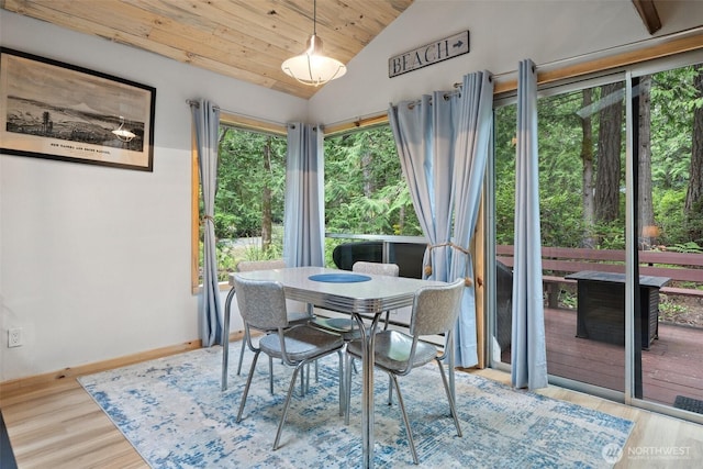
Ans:
[{"label": "lit pendant light with glass shade hanging from wood ceiling", "polygon": [[347,67],[337,59],[322,54],[322,40],[317,36],[317,0],[313,2],[313,33],[308,40],[308,48],[301,55],[283,62],[281,68],[286,75],[303,85],[319,87],[330,80],[342,77]]}]

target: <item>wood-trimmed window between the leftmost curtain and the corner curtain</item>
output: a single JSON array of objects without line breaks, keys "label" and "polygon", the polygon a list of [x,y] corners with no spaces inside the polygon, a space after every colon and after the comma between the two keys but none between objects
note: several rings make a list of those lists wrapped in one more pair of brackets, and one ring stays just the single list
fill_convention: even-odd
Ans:
[{"label": "wood-trimmed window between the leftmost curtain and the corner curtain", "polygon": [[[275,130],[276,131],[276,130]],[[215,239],[220,281],[241,260],[279,258],[283,245],[286,130],[253,129],[232,116],[220,123]],[[202,202],[193,166],[193,292],[202,283]]]}]

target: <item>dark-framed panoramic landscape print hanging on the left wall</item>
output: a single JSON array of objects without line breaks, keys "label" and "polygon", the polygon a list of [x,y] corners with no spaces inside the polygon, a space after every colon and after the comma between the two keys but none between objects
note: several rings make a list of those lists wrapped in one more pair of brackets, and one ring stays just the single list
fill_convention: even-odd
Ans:
[{"label": "dark-framed panoramic landscape print hanging on the left wall", "polygon": [[0,47],[0,153],[154,170],[156,89]]}]

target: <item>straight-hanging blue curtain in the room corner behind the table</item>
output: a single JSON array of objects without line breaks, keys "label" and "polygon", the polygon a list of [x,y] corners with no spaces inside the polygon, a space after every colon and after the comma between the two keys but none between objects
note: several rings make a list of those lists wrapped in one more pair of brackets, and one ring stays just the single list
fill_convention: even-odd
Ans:
[{"label": "straight-hanging blue curtain in the room corner behind the table", "polygon": [[289,267],[325,265],[322,137],[314,125],[288,125],[283,259]]}]

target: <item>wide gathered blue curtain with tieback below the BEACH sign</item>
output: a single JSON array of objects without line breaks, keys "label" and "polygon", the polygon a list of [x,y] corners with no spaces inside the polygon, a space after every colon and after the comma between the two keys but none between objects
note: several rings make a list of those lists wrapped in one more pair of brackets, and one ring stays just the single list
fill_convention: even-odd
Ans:
[{"label": "wide gathered blue curtain with tieback below the BEACH sign", "polygon": [[[425,237],[424,278],[467,278],[455,334],[456,365],[478,362],[469,244],[476,227],[492,129],[489,72],[464,77],[461,92],[435,91],[389,109],[403,175]],[[454,369],[454,362],[450,362]],[[451,375],[450,375],[451,377]]]}]

